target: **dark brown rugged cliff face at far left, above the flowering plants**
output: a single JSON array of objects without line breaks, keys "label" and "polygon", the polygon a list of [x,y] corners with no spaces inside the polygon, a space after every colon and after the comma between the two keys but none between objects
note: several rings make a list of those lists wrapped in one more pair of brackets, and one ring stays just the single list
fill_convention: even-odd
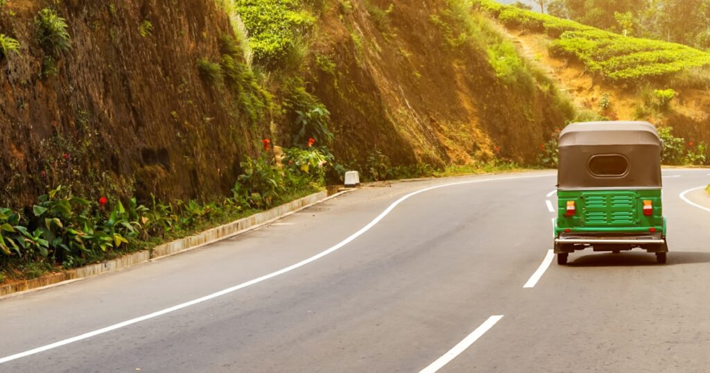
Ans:
[{"label": "dark brown rugged cliff face at far left, above the flowering plants", "polygon": [[9,1],[0,16],[0,32],[22,44],[0,61],[0,205],[58,184],[87,197],[229,190],[268,129],[200,79],[198,58],[219,59],[231,33],[214,1],[58,3],[72,49],[55,63],[35,40],[43,1]]}]

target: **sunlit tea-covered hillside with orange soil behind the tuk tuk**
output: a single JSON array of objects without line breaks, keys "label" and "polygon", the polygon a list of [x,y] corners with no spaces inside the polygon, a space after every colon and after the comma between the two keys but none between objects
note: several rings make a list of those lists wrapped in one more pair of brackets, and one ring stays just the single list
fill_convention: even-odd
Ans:
[{"label": "sunlit tea-covered hillside with orange soil behind the tuk tuk", "polygon": [[577,106],[608,119],[648,120],[669,128],[667,144],[674,148],[667,151],[673,154],[667,163],[710,161],[709,53],[494,1],[476,0],[474,6],[501,22],[521,53],[537,60]]}]

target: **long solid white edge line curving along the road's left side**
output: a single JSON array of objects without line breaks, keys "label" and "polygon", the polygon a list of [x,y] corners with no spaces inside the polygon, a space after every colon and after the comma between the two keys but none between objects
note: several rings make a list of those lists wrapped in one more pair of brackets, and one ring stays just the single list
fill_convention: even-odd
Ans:
[{"label": "long solid white edge line curving along the road's left side", "polygon": [[240,283],[239,285],[232,286],[231,288],[226,288],[226,289],[224,289],[224,290],[222,290],[222,291],[217,291],[217,293],[212,293],[212,294],[209,294],[208,296],[203,296],[202,298],[197,298],[197,299],[195,299],[195,300],[193,300],[193,301],[189,301],[189,302],[185,302],[185,303],[180,303],[180,304],[178,304],[177,306],[173,306],[173,307],[170,307],[170,308],[165,308],[164,310],[159,310],[159,311],[156,311],[156,312],[154,312],[154,313],[149,313],[148,315],[143,315],[143,316],[138,317],[138,318],[132,318],[131,320],[126,320],[126,321],[124,321],[124,322],[122,322],[122,323],[117,323],[117,324],[114,324],[114,325],[107,326],[106,328],[102,328],[102,329],[99,329],[99,330],[94,330],[94,331],[92,331],[92,332],[84,333],[84,334],[82,334],[82,335],[77,335],[76,337],[71,337],[71,338],[67,338],[67,339],[65,339],[65,340],[60,340],[60,341],[58,341],[58,342],[51,343],[50,345],[44,345],[44,346],[42,346],[42,347],[37,347],[37,348],[35,348],[35,349],[33,349],[33,350],[28,350],[28,351],[25,351],[25,352],[20,352],[20,353],[18,353],[18,354],[10,355],[10,356],[8,356],[8,357],[3,357],[3,358],[0,359],[0,364],[6,363],[6,362],[10,362],[10,361],[12,361],[12,360],[20,359],[20,358],[22,358],[22,357],[28,357],[28,356],[30,356],[30,355],[35,355],[35,354],[38,354],[38,353],[40,353],[40,352],[44,352],[44,351],[47,351],[47,350],[52,350],[52,349],[54,349],[54,348],[61,347],[61,346],[64,346],[64,345],[69,345],[70,343],[78,342],[78,341],[80,341],[80,340],[85,340],[85,339],[87,339],[87,338],[94,337],[94,336],[99,335],[99,334],[108,333],[108,332],[110,332],[111,330],[116,330],[116,329],[119,329],[119,328],[124,328],[124,327],[126,327],[126,326],[128,326],[128,325],[133,325],[133,324],[135,324],[135,323],[140,323],[141,321],[150,320],[151,318],[156,318],[156,317],[158,317],[158,316],[160,316],[160,315],[165,315],[166,313],[172,313],[172,312],[175,312],[176,310],[181,310],[182,308],[187,308],[187,307],[190,307],[190,306],[195,306],[195,305],[198,304],[198,303],[206,302],[206,301],[212,300],[212,299],[214,299],[214,298],[218,298],[218,297],[220,297],[220,296],[225,296],[226,294],[233,293],[234,291],[238,291],[239,289],[246,288],[246,287],[248,287],[248,286],[252,286],[252,285],[254,285],[254,284],[256,284],[256,283],[260,283],[260,282],[266,281],[266,280],[268,280],[268,279],[273,279],[274,277],[280,276],[280,275],[282,275],[282,274],[286,274],[286,273],[288,273],[288,272],[290,272],[290,271],[293,271],[294,269],[300,268],[300,267],[302,267],[302,266],[305,266],[306,264],[310,264],[310,263],[312,263],[312,262],[314,262],[314,261],[317,261],[318,259],[321,259],[323,256],[326,256],[326,255],[328,255],[328,254],[331,254],[332,252],[335,252],[335,251],[337,251],[338,249],[344,247],[346,244],[349,244],[349,243],[352,242],[354,239],[356,239],[357,237],[360,237],[362,234],[364,234],[365,232],[367,232],[368,230],[370,230],[372,227],[374,227],[378,222],[380,222],[381,220],[383,220],[384,217],[386,217],[387,215],[389,215],[389,213],[392,212],[392,210],[394,210],[395,207],[397,207],[397,205],[399,205],[400,203],[404,202],[405,200],[408,200],[409,198],[411,198],[411,197],[413,197],[413,196],[415,196],[415,195],[417,195],[417,194],[425,193],[425,192],[427,192],[427,191],[429,191],[429,190],[434,190],[434,189],[444,188],[444,187],[449,187],[449,186],[454,186],[454,185],[466,185],[466,184],[474,184],[474,183],[484,183],[484,182],[486,182],[486,181],[498,181],[498,180],[516,180],[516,179],[527,179],[527,178],[545,178],[545,177],[550,177],[550,176],[552,176],[552,175],[512,176],[512,177],[508,177],[508,178],[492,178],[492,179],[481,179],[481,180],[469,180],[469,181],[461,181],[461,182],[459,182],[459,183],[450,183],[450,184],[435,185],[435,186],[432,186],[432,187],[430,187],[430,188],[425,188],[425,189],[422,189],[422,190],[417,190],[417,191],[415,191],[415,192],[413,192],[413,193],[409,193],[408,195],[405,195],[404,197],[400,198],[399,200],[396,200],[395,202],[393,202],[392,205],[390,205],[389,207],[387,207],[386,210],[384,210],[384,211],[383,211],[380,215],[378,215],[374,220],[372,220],[371,222],[369,222],[368,225],[366,225],[365,227],[362,227],[359,231],[355,232],[355,233],[352,234],[350,237],[344,239],[342,242],[339,242],[339,243],[336,244],[335,246],[330,247],[329,249],[325,250],[324,252],[321,252],[320,254],[316,254],[316,255],[314,255],[314,256],[311,256],[311,257],[308,258],[308,259],[305,259],[305,260],[300,261],[300,262],[298,262],[298,263],[296,263],[296,264],[293,264],[292,266],[288,266],[288,267],[286,267],[286,268],[284,268],[284,269],[280,269],[279,271],[272,272],[271,274],[267,274],[267,275],[261,276],[261,277],[259,277],[258,279],[253,279],[253,280],[251,280],[251,281],[246,281],[245,283]]}]

